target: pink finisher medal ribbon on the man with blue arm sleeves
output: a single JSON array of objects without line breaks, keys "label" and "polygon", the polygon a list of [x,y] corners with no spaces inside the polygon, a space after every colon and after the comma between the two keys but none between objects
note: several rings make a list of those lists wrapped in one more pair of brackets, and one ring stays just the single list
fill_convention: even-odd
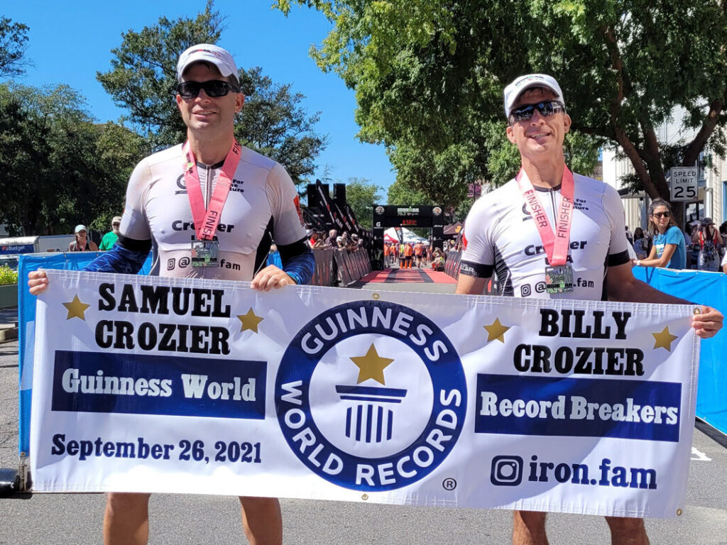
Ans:
[{"label": "pink finisher medal ribbon on the man with blue arm sleeves", "polygon": [[199,174],[197,171],[197,161],[194,153],[189,145],[189,141],[185,142],[182,152],[185,154],[186,163],[184,171],[184,179],[187,185],[187,195],[189,197],[189,206],[192,209],[192,219],[194,222],[194,230],[197,233],[198,241],[212,241],[217,225],[220,224],[222,217],[222,207],[225,206],[230,187],[232,186],[232,177],[237,170],[240,162],[240,151],[242,146],[237,140],[233,140],[232,148],[222,163],[220,177],[217,184],[214,185],[214,193],[209,199],[209,206],[205,210],[204,197],[202,196],[202,188],[199,183]]}]

